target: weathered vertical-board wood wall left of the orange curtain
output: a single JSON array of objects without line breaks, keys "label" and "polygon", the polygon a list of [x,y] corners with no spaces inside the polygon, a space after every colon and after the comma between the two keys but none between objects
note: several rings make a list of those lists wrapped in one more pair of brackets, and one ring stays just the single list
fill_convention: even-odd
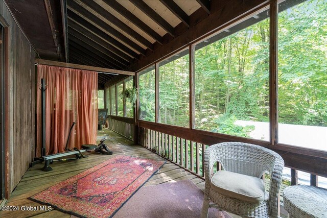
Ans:
[{"label": "weathered vertical-board wood wall left of the orange curtain", "polygon": [[5,146],[8,157],[6,197],[29,168],[35,147],[35,53],[3,0],[1,22],[7,32],[5,46]]}]

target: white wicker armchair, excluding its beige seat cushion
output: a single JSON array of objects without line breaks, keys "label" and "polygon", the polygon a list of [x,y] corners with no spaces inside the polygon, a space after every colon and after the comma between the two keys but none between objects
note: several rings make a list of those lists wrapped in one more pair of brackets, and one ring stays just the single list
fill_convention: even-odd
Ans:
[{"label": "white wicker armchair, excluding its beige seat cushion", "polygon": [[[261,178],[270,174],[269,193],[260,204],[230,198],[211,189],[211,169],[216,162],[225,171]],[[284,160],[277,153],[254,144],[223,142],[210,146],[204,153],[205,191],[201,217],[207,217],[210,201],[217,208],[244,217],[278,217],[278,195],[282,182]]]}]

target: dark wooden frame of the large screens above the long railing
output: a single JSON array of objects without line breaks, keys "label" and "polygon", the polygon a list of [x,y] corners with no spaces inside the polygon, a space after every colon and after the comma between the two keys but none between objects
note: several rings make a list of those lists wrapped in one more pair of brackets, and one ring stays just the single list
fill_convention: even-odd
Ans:
[{"label": "dark wooden frame of the large screens above the long railing", "polygon": [[[233,140],[233,141],[243,141],[247,143],[254,143],[258,144],[260,146],[270,148],[270,149],[277,149],[277,150],[282,150],[285,152],[295,152],[297,154],[303,154],[303,155],[310,155],[310,156],[315,156],[315,157],[322,157],[325,158],[327,156],[327,152],[320,151],[320,150],[314,150],[314,149],[309,149],[309,148],[304,148],[299,146],[293,146],[290,144],[283,144],[283,143],[278,143],[278,120],[277,120],[277,52],[278,52],[278,47],[277,47],[277,34],[278,34],[278,4],[283,1],[276,1],[273,0],[269,3],[266,3],[262,5],[261,7],[245,14],[244,16],[227,23],[226,25],[222,26],[219,28],[215,33],[210,33],[207,35],[204,35],[200,39],[198,39],[195,42],[189,43],[183,47],[181,47],[179,50],[175,51],[172,54],[169,54],[165,57],[162,57],[155,61],[154,63],[147,65],[146,67],[143,67],[142,69],[139,69],[138,71],[135,72],[135,77],[136,77],[136,87],[139,87],[138,84],[138,78],[139,78],[139,73],[147,69],[148,67],[155,65],[155,122],[149,122],[146,120],[139,119],[138,117],[138,111],[139,111],[139,102],[137,100],[137,110],[136,110],[136,122],[144,123],[146,125],[153,125],[153,124],[158,124],[161,127],[166,128],[176,128],[178,130],[191,130],[195,134],[196,133],[201,133],[201,134],[206,134],[206,135],[212,135],[218,138],[222,139],[227,139],[227,140]],[[232,135],[226,135],[226,134],[221,134],[221,133],[213,133],[213,132],[208,132],[204,130],[198,130],[194,128],[195,124],[195,101],[194,101],[194,92],[195,92],[195,84],[194,84],[194,53],[195,53],[195,45],[204,41],[207,38],[211,38],[214,35],[217,35],[233,26],[236,26],[238,23],[249,19],[259,11],[267,10],[269,9],[269,41],[270,41],[270,49],[269,49],[269,133],[270,133],[270,140],[269,141],[263,141],[259,139],[251,139],[251,138],[245,138],[245,137],[240,137],[240,136],[232,136]],[[190,76],[189,76],[189,87],[190,87],[190,125],[189,128],[185,127],[177,127],[177,126],[172,126],[172,125],[167,125],[167,124],[162,124],[158,123],[158,111],[159,111],[159,94],[158,94],[158,87],[159,87],[159,79],[158,79],[158,69],[159,69],[159,63],[165,59],[168,59],[171,56],[174,56],[181,51],[189,49],[189,58],[190,58]],[[158,126],[155,125],[155,126]]]}]

